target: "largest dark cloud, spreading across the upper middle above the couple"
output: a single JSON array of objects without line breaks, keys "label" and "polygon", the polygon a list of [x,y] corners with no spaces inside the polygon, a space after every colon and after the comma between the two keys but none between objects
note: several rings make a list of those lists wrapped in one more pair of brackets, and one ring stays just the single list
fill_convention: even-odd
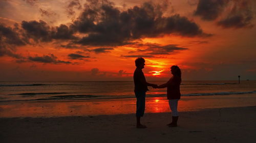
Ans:
[{"label": "largest dark cloud, spreading across the upper middle above the couple", "polygon": [[[166,7],[166,6],[165,6]],[[165,34],[180,36],[209,36],[194,21],[178,14],[163,17],[163,6],[144,3],[126,11],[120,11],[108,1],[89,1],[84,11],[74,21],[74,30],[88,34],[77,43],[94,46],[130,44],[143,37],[159,37]]]}]

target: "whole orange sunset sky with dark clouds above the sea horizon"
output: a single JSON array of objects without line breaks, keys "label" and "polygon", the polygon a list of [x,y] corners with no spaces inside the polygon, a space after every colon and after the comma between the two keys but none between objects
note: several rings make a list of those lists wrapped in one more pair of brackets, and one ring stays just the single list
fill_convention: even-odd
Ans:
[{"label": "whole orange sunset sky with dark clouds above the sea horizon", "polygon": [[0,81],[256,80],[250,0],[0,0]]}]

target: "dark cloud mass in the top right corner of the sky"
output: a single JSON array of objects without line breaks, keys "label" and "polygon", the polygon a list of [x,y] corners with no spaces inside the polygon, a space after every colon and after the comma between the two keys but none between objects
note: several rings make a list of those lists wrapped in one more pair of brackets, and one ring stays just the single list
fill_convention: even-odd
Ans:
[{"label": "dark cloud mass in the top right corner of the sky", "polygon": [[201,16],[203,20],[222,17],[218,19],[217,25],[223,28],[253,27],[251,21],[254,16],[250,0],[200,0],[195,15]]}]

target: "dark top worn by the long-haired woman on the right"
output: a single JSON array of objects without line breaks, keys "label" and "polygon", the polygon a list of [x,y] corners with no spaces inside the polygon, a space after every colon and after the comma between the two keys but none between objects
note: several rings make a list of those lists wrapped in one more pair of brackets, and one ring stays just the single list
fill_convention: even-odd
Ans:
[{"label": "dark top worn by the long-haired woman on the right", "polygon": [[167,82],[167,99],[180,99],[180,83],[179,76],[173,76]]}]

